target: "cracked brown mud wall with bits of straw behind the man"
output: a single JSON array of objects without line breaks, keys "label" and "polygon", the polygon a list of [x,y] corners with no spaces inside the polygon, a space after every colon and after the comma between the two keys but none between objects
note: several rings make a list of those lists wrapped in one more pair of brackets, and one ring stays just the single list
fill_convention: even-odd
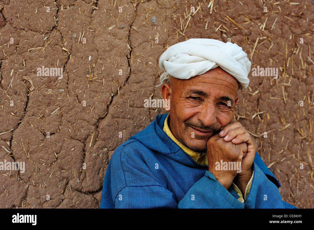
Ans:
[{"label": "cracked brown mud wall with bits of straw behind the man", "polygon": [[[209,2],[0,0],[0,161],[25,162],[1,171],[0,207],[98,208],[113,151],[164,113],[143,107],[161,98],[159,56],[189,38],[230,38],[252,68],[280,73],[250,73],[235,120],[256,135],[283,200],[313,208],[314,2]],[[42,66],[62,79],[37,76]]]}]

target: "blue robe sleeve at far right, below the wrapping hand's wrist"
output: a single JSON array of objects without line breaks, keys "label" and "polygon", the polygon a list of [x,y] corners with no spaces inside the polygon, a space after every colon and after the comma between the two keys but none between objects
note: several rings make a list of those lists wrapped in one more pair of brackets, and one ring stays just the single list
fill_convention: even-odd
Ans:
[{"label": "blue robe sleeve at far right, below the wrapping hand's wrist", "polygon": [[296,208],[284,202],[276,185],[268,180],[254,162],[254,175],[250,191],[244,201],[245,208]]}]

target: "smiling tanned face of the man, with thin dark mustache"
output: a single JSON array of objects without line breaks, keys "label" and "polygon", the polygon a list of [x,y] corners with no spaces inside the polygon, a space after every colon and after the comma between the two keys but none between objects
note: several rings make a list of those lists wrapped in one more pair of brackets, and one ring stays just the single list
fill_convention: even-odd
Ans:
[{"label": "smiling tanned face of the man, with thin dark mustache", "polygon": [[196,152],[206,151],[208,139],[232,121],[237,91],[236,78],[220,67],[187,80],[171,77],[161,94],[170,99],[169,128],[175,138]]}]

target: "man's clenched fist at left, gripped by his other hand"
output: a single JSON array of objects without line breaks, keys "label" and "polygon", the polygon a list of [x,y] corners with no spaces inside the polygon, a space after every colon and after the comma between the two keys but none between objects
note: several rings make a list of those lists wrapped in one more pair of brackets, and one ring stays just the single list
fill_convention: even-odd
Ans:
[{"label": "man's clenched fist at left, gripped by his other hand", "polygon": [[[225,142],[223,138],[219,137],[218,133],[207,141],[208,171],[210,171],[216,180],[227,190],[236,177],[237,170],[216,170],[216,162],[220,164],[222,160],[223,162],[227,162],[228,165],[229,162],[241,162],[246,151],[246,143],[233,144],[232,142]],[[236,164],[239,165],[239,163]]]}]

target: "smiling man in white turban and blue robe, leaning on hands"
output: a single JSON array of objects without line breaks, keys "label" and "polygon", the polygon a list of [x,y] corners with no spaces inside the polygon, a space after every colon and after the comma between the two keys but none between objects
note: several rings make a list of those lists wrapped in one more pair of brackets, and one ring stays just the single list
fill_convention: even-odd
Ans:
[{"label": "smiling man in white turban and blue robe, leaning on hands", "polygon": [[159,65],[169,113],[116,148],[100,208],[295,208],[281,199],[255,140],[232,123],[237,92],[249,84],[242,48],[189,39]]}]

